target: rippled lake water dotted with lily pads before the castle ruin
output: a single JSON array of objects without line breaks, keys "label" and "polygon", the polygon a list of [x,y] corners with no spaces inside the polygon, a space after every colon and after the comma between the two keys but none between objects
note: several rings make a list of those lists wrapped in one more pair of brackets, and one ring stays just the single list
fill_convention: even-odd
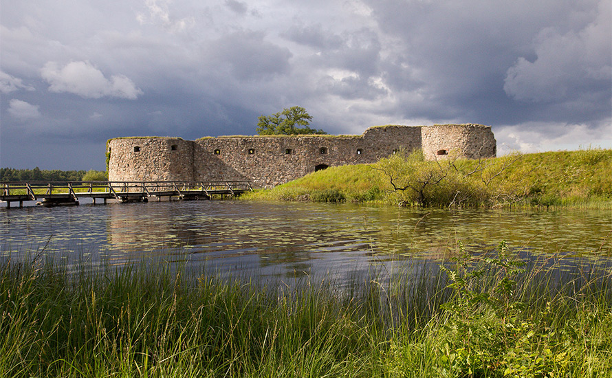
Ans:
[{"label": "rippled lake water dotted with lily pads before the castle ruin", "polygon": [[[415,210],[368,205],[173,201],[0,209],[0,256],[94,266],[157,260],[246,276],[362,274],[406,260],[437,263],[459,242],[507,241],[526,258],[612,256],[612,212]],[[609,263],[606,263],[609,264]]]}]

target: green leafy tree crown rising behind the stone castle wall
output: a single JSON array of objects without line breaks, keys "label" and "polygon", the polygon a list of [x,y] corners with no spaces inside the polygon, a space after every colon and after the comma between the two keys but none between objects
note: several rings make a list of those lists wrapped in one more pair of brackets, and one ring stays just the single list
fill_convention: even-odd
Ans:
[{"label": "green leafy tree crown rising behind the stone castle wall", "polygon": [[261,115],[257,122],[259,135],[298,135],[298,134],[327,134],[323,130],[311,129],[308,125],[312,115],[303,107],[290,107],[280,113]]}]

